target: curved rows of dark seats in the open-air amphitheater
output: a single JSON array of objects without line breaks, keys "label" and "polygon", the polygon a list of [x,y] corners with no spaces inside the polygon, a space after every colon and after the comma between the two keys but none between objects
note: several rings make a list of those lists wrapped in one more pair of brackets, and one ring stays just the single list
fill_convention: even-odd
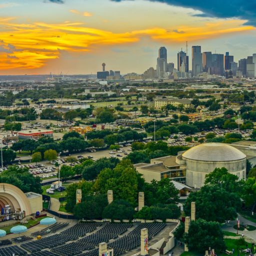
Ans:
[{"label": "curved rows of dark seats in the open-air amphitheater", "polygon": [[[171,232],[176,226],[177,222],[77,222],[58,218],[50,227],[29,228],[19,239],[17,234],[2,237],[0,255],[98,256],[101,242],[113,249],[113,255],[140,255],[142,228],[147,228],[149,250],[153,252],[148,254],[159,255],[160,251],[168,250],[167,245],[173,247]],[[41,239],[36,239],[38,235]]]}]

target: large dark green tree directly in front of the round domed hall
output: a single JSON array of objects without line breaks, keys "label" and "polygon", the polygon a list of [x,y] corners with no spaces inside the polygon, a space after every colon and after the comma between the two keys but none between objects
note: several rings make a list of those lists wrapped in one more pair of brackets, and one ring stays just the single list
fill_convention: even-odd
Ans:
[{"label": "large dark green tree directly in front of the round domed hall", "polygon": [[184,204],[184,211],[190,216],[190,204],[195,201],[196,219],[223,223],[234,219],[236,211],[241,207],[240,197],[216,185],[205,185],[197,192],[191,192]]}]

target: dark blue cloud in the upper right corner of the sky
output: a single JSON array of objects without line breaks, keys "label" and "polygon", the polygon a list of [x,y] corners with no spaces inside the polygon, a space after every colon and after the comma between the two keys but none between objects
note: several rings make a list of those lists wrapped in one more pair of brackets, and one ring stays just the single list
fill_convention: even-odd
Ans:
[{"label": "dark blue cloud in the upper right corner of the sky", "polygon": [[[122,1],[122,0],[112,0]],[[256,0],[150,0],[158,1],[176,6],[201,10],[203,13],[196,16],[230,18],[237,17],[247,19],[246,25],[256,26]]]}]

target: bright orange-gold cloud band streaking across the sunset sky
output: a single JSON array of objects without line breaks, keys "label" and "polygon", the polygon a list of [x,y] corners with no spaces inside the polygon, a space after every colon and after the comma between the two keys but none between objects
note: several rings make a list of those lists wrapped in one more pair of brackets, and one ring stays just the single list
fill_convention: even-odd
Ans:
[{"label": "bright orange-gold cloud band streaking across the sunset sky", "polygon": [[[75,11],[72,10],[74,13]],[[242,23],[243,21],[235,19],[209,22],[196,27],[155,27],[116,33],[86,27],[81,22],[20,24],[14,23],[12,17],[0,18],[0,69],[38,68],[47,60],[58,58],[60,50],[86,52],[102,48],[102,45],[135,43],[145,36],[151,40],[178,43],[255,29],[252,26],[242,26]]]}]

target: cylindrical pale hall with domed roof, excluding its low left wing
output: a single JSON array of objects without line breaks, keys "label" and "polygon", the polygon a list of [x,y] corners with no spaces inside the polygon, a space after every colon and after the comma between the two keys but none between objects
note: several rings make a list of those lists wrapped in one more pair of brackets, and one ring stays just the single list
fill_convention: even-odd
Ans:
[{"label": "cylindrical pale hall with domed roof, excluding its low left wing", "polygon": [[[186,184],[195,188],[203,186],[205,175],[215,168],[225,167],[239,179],[245,178],[246,155],[225,143],[196,145],[181,154],[179,163],[186,165]],[[183,162],[184,161],[184,162]]]}]

